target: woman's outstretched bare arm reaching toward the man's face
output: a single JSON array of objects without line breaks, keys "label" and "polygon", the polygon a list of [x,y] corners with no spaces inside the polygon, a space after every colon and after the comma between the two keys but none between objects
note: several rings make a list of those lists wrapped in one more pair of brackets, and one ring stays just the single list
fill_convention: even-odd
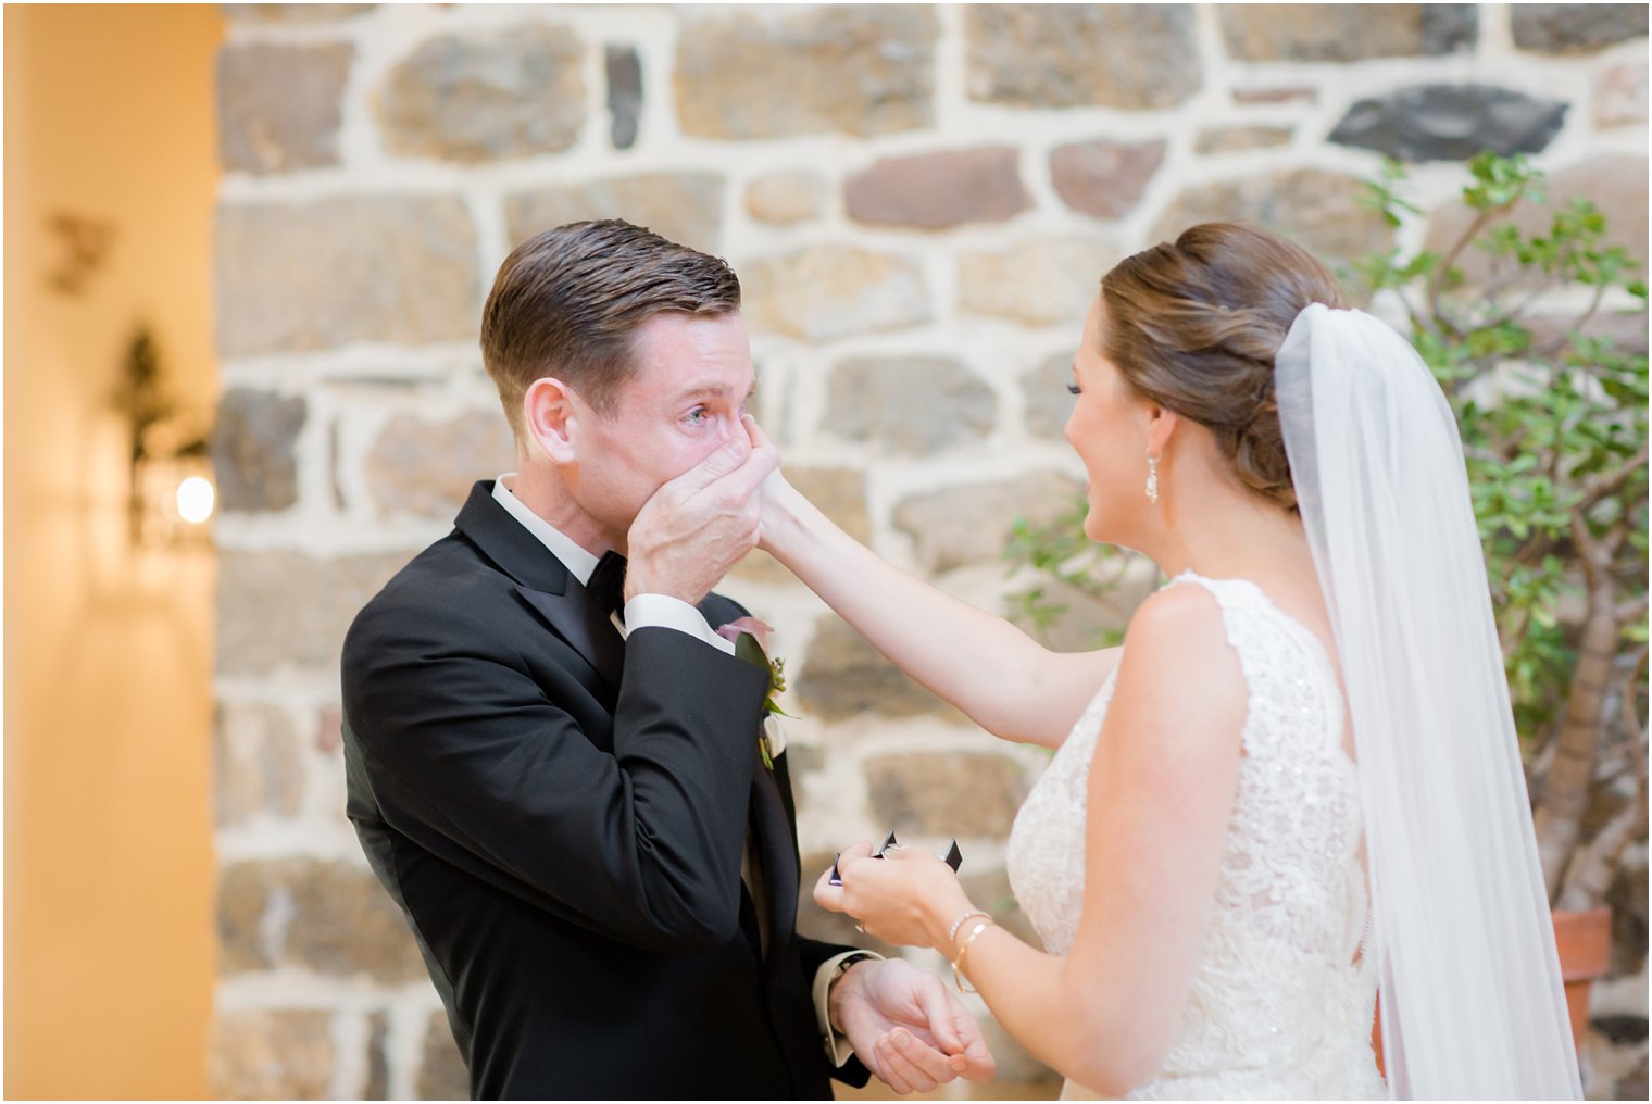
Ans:
[{"label": "woman's outstretched bare arm reaching toward the man's face", "polygon": [[874,648],[1006,740],[1057,747],[1118,663],[1118,650],[1057,653],[887,564],[785,481],[763,484],[767,552]]}]

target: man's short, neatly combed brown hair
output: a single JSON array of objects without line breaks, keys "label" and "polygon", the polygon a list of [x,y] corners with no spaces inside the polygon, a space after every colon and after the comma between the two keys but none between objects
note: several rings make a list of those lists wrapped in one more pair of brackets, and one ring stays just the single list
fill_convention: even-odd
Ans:
[{"label": "man's short, neatly combed brown hair", "polygon": [[636,329],[667,311],[732,314],[729,264],[628,221],[568,223],[519,245],[482,307],[482,364],[517,440],[522,397],[547,375],[610,413],[633,370]]}]

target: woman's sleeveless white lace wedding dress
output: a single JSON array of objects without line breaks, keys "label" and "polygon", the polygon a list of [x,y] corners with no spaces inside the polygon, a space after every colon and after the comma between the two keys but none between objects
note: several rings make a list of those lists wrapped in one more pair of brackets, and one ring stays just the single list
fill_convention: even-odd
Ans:
[{"label": "woman's sleeveless white lace wedding dress", "polygon": [[[1318,638],[1254,583],[1184,573],[1222,610],[1249,684],[1242,759],[1211,927],[1163,1068],[1132,1099],[1386,1097],[1371,1051],[1358,775]],[[1051,954],[1084,901],[1090,757],[1108,676],[1009,833],[1009,881]],[[1105,983],[1099,978],[1097,983]],[[1105,1046],[1097,1040],[1097,1046]],[[1069,1081],[1064,1099],[1095,1092]]]}]

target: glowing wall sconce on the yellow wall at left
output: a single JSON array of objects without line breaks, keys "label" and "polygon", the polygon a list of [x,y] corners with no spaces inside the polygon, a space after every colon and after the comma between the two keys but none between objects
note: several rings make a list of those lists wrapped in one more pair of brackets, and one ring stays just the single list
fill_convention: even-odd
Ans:
[{"label": "glowing wall sconce on the yellow wall at left", "polygon": [[132,431],[127,516],[132,544],[182,547],[210,544],[218,493],[206,435],[185,435],[162,382],[160,352],[140,326],[127,347],[117,405]]}]

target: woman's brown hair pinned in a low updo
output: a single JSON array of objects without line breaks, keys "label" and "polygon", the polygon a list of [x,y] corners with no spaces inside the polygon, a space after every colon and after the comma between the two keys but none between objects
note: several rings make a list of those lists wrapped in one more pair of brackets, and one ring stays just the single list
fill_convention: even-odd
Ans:
[{"label": "woman's brown hair pinned in a low updo", "polygon": [[1305,250],[1201,223],[1102,276],[1102,354],[1143,398],[1208,426],[1241,484],[1295,512],[1274,354],[1310,302],[1343,306]]}]

